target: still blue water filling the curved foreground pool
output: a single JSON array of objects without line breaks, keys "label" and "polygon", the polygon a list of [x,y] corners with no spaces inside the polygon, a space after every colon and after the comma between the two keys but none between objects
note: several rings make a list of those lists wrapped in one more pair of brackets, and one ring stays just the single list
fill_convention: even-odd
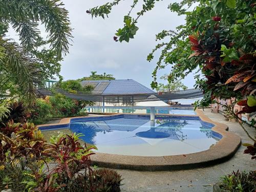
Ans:
[{"label": "still blue water filling the curved foreground pool", "polygon": [[71,119],[69,129],[100,153],[167,156],[208,150],[220,139],[212,126],[197,116],[115,115]]}]

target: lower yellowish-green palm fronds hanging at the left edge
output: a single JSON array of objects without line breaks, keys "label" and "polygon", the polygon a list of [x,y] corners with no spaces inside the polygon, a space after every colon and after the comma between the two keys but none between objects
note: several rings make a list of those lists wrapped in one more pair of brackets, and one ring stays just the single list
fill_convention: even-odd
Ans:
[{"label": "lower yellowish-green palm fronds hanging at the left edge", "polygon": [[[5,56],[0,59],[0,94],[5,97],[20,95],[25,104],[35,98],[35,84],[41,82],[40,70],[33,56],[9,39],[0,36],[0,47]],[[18,85],[18,86],[17,86]],[[9,94],[6,94],[9,91]]]}]

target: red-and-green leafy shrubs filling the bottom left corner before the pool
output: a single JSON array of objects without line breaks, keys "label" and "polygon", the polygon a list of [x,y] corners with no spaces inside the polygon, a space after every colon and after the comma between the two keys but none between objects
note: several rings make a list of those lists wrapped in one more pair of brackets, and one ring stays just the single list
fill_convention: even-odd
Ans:
[{"label": "red-and-green leafy shrubs filling the bottom left corner before the pool", "polygon": [[120,191],[120,175],[94,170],[90,156],[97,148],[83,146],[80,136],[60,134],[47,143],[33,123],[9,122],[0,130],[0,189]]}]

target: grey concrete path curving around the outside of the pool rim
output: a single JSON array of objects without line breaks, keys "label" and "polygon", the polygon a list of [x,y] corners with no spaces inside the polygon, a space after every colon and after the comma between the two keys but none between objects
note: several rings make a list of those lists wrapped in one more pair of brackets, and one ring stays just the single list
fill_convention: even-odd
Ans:
[{"label": "grey concrete path curving around the outside of the pool rim", "polygon": [[[221,114],[214,114],[210,109],[205,109],[207,115],[213,121],[228,125],[229,131],[241,137],[242,143],[250,142],[246,133],[237,122],[225,121]],[[255,135],[255,130],[248,128],[250,135]],[[244,146],[241,146],[230,160],[210,167],[179,170],[169,172],[138,172],[132,170],[116,169],[122,175],[122,191],[136,192],[163,192],[163,191],[212,191],[212,185],[223,175],[230,174],[232,170],[253,170],[256,167],[255,160],[251,156],[243,154]]]}]

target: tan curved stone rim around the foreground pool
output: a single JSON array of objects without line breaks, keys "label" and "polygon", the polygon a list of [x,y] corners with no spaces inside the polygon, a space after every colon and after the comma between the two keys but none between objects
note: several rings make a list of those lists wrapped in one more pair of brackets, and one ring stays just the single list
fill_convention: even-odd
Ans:
[{"label": "tan curved stone rim around the foreground pool", "polygon": [[[211,130],[215,134],[215,137],[220,138],[220,140],[206,151],[172,156],[128,156],[96,152],[95,155],[91,156],[92,164],[109,168],[156,171],[205,167],[222,163],[230,159],[237,152],[239,146],[241,145],[241,138],[236,134],[228,132],[227,125],[210,120],[200,109],[197,109],[196,113],[197,115],[159,115],[169,117],[185,116],[191,118],[200,118],[203,122],[213,124],[214,126],[211,128]],[[108,114],[101,117],[119,115],[122,114]],[[63,118],[57,124],[44,124],[38,125],[38,127],[40,130],[69,128],[70,122],[77,121],[79,118],[84,119],[93,117]]]}]

